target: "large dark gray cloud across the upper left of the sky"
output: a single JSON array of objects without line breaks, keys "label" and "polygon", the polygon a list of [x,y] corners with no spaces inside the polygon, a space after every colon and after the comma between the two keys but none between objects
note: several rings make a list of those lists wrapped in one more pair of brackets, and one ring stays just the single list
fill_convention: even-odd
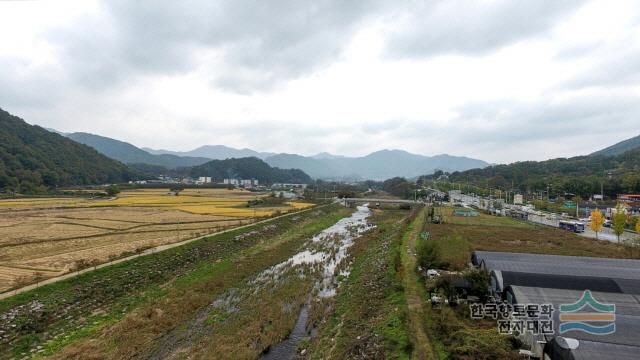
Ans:
[{"label": "large dark gray cloud across the upper left of the sky", "polygon": [[377,2],[116,0],[104,3],[107,19],[85,19],[52,39],[85,86],[192,70],[192,54],[212,50],[221,60],[204,65],[217,66],[213,83],[249,93],[335,59]]}]

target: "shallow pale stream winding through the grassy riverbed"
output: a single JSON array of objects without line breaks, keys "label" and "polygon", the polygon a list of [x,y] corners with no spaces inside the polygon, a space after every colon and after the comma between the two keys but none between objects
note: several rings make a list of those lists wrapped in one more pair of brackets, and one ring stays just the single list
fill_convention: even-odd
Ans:
[{"label": "shallow pale stream winding through the grassy riverbed", "polygon": [[[298,317],[290,334],[285,340],[271,346],[260,357],[264,360],[294,358],[297,355],[298,343],[309,334],[307,320],[311,302],[334,296],[339,283],[338,276],[348,276],[349,264],[343,262],[355,239],[373,228],[367,223],[370,215],[371,211],[366,205],[359,206],[349,217],[339,220],[309,239],[297,254],[263,270],[245,285],[218,296],[208,306],[199,310],[186,327],[176,328],[164,336],[160,346],[147,358],[182,358],[184,351],[196,346],[198,338],[210,336],[211,325],[208,325],[207,321],[211,319],[211,314],[237,314],[242,304],[251,298],[260,297],[265,290],[275,288],[292,277],[304,279],[309,274],[314,274],[309,278],[312,281],[312,290],[306,303],[298,310]],[[341,270],[338,272],[336,269]]]}]

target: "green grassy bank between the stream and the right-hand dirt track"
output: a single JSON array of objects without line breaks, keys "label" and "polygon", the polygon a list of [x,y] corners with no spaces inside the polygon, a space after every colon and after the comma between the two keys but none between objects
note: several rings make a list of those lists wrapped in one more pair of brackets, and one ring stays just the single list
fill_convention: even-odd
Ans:
[{"label": "green grassy bank between the stream and the right-hand dirt track", "polygon": [[[407,302],[402,285],[401,243],[408,212],[376,210],[377,228],[350,249],[353,261],[308,347],[312,359],[409,359]],[[316,309],[316,318],[318,310]],[[313,315],[313,314],[312,314]]]}]

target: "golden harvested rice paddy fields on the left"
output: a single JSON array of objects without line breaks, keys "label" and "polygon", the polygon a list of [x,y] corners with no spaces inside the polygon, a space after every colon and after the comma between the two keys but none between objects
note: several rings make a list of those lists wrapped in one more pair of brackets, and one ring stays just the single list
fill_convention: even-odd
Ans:
[{"label": "golden harvested rice paddy fields on the left", "polygon": [[0,292],[136,252],[305,209],[248,207],[244,190],[123,191],[113,199],[0,200]]}]

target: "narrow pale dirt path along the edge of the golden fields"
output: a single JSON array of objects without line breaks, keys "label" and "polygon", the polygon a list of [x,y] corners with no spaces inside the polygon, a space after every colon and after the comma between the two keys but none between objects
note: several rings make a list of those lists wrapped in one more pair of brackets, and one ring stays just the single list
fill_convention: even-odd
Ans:
[{"label": "narrow pale dirt path along the edge of the golden fields", "polygon": [[83,270],[80,270],[80,271],[75,271],[75,272],[72,272],[72,273],[67,273],[67,274],[64,274],[64,275],[48,278],[46,280],[40,281],[37,284],[31,284],[31,285],[28,285],[28,286],[25,286],[25,287],[22,287],[22,288],[19,288],[19,289],[10,290],[10,291],[4,292],[4,293],[0,293],[0,300],[6,299],[8,297],[11,297],[11,296],[14,296],[14,295],[17,295],[17,294],[21,294],[23,292],[27,292],[29,290],[36,289],[36,288],[38,288],[40,286],[43,286],[43,285],[53,284],[53,283],[56,283],[58,281],[70,279],[70,278],[76,277],[78,275],[81,275],[81,274],[84,274],[84,273],[87,273],[87,272],[90,272],[90,271],[95,271],[97,269],[101,269],[103,267],[107,267],[107,266],[111,266],[111,265],[114,265],[114,264],[119,264],[121,262],[129,261],[129,260],[135,259],[135,258],[140,257],[140,256],[146,256],[146,255],[153,254],[153,253],[156,253],[156,252],[168,250],[168,249],[171,249],[171,248],[174,248],[174,247],[177,247],[177,246],[182,246],[182,245],[185,245],[185,244],[188,244],[188,243],[191,243],[191,242],[194,242],[194,241],[197,241],[197,240],[209,237],[209,236],[224,234],[226,232],[235,231],[235,230],[238,230],[238,229],[244,229],[244,228],[247,228],[249,226],[256,225],[256,224],[267,223],[267,222],[270,222],[270,221],[273,221],[273,220],[276,220],[276,219],[280,219],[280,218],[283,218],[283,217],[292,216],[292,215],[296,215],[296,214],[301,214],[301,213],[304,213],[304,212],[307,212],[307,211],[316,210],[316,209],[319,209],[319,208],[322,208],[322,207],[325,207],[325,206],[327,206],[327,205],[315,206],[315,207],[312,207],[312,208],[308,208],[308,209],[304,209],[304,210],[300,210],[300,211],[295,211],[295,212],[290,212],[290,213],[287,213],[287,214],[284,214],[284,215],[280,215],[280,216],[276,216],[276,217],[273,217],[273,218],[269,218],[269,219],[266,219],[266,220],[261,220],[261,221],[253,222],[253,223],[250,223],[250,224],[237,226],[237,227],[232,227],[232,228],[229,228],[229,229],[226,229],[226,230],[222,230],[222,231],[206,234],[206,235],[203,235],[203,236],[198,236],[196,238],[183,240],[183,241],[172,243],[172,244],[166,244],[166,245],[160,245],[160,246],[157,246],[157,247],[153,247],[153,248],[147,249],[147,250],[145,250],[145,251],[143,251],[143,252],[141,252],[139,254],[136,254],[136,255],[127,256],[127,257],[124,257],[124,258],[121,258],[121,259],[117,259],[117,260],[114,260],[114,261],[103,263],[103,264],[100,264],[100,265],[97,265],[97,266],[94,266],[94,267],[90,267],[90,268],[86,268],[86,269],[83,269]]}]

